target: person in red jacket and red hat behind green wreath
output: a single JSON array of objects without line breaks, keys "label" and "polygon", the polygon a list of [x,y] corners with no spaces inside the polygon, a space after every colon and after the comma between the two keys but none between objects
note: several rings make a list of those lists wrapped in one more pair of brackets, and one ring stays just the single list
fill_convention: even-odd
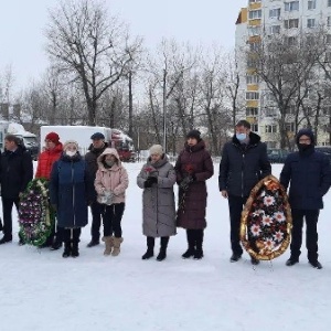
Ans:
[{"label": "person in red jacket and red hat behind green wreath", "polygon": [[[34,178],[41,178],[50,180],[51,171],[53,163],[57,161],[62,154],[63,147],[60,142],[60,137],[56,132],[50,132],[45,137],[45,149],[40,153],[38,158],[36,171]],[[56,228],[56,233],[55,233]],[[55,239],[54,239],[55,237]],[[46,239],[46,242],[40,246],[50,247],[51,250],[56,250],[62,247],[62,233],[61,227],[58,225],[53,225],[51,235]]]}]

